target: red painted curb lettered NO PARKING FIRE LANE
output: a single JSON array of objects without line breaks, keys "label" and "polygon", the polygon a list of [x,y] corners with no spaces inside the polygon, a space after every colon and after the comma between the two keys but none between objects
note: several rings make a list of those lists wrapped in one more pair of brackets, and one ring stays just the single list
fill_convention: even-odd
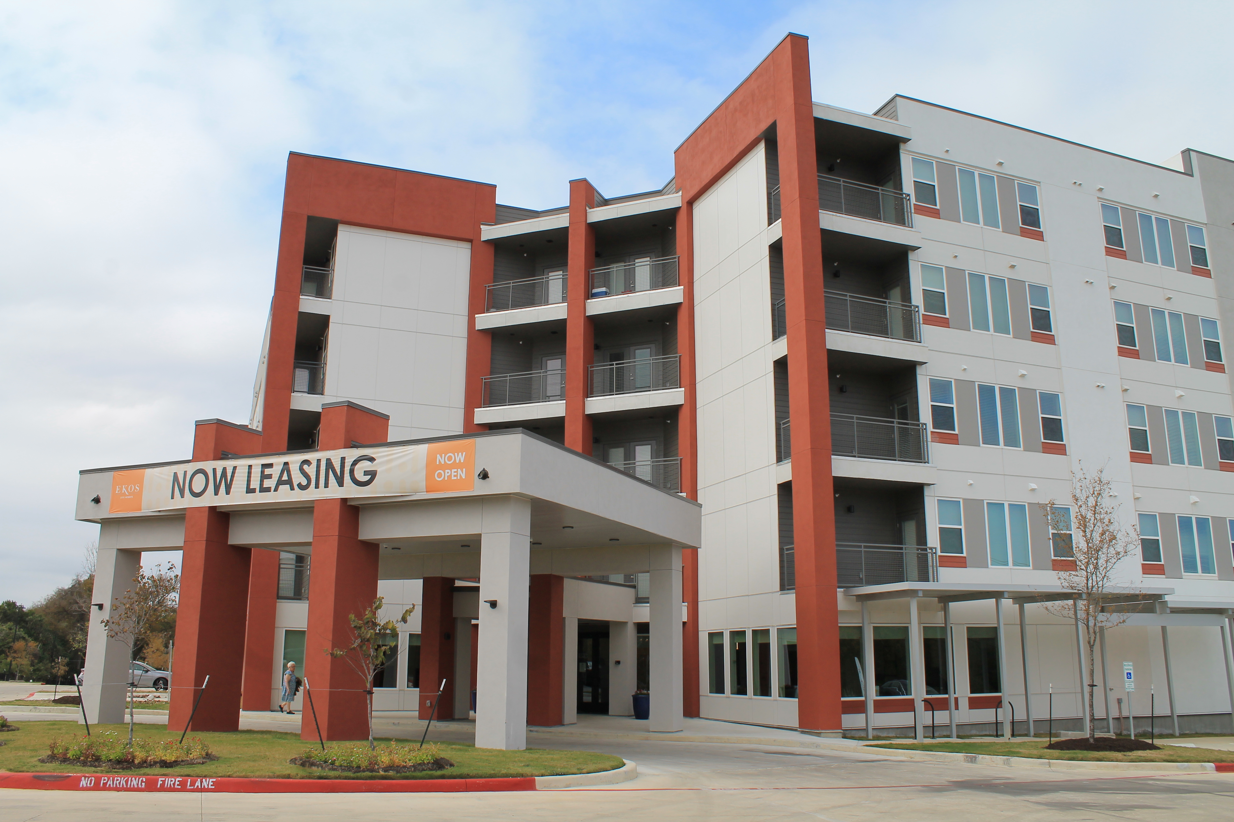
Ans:
[{"label": "red painted curb lettered NO PARKING FIRE LANE", "polygon": [[495,779],[247,779],[241,776],[158,776],[144,774],[9,774],[0,787],[42,791],[121,791],[147,794],[460,794],[533,791],[534,776]]}]

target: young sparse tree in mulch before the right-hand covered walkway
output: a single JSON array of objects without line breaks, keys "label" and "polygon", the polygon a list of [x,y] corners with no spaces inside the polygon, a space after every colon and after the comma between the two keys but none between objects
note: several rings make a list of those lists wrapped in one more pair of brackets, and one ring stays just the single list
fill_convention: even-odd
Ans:
[{"label": "young sparse tree in mulch before the right-hand covered walkway", "polygon": [[1087,653],[1088,682],[1086,686],[1088,714],[1088,741],[1095,742],[1096,723],[1096,667],[1097,637],[1101,630],[1122,625],[1127,614],[1103,611],[1111,595],[1134,595],[1137,590],[1129,585],[1120,573],[1119,563],[1139,550],[1140,537],[1137,527],[1123,527],[1118,509],[1112,503],[1116,494],[1113,483],[1106,477],[1104,467],[1093,472],[1080,463],[1079,471],[1071,472],[1071,499],[1059,503],[1050,499],[1040,505],[1053,531],[1051,546],[1055,558],[1069,558],[1075,569],[1059,571],[1059,584],[1075,593],[1075,599],[1067,601],[1044,603],[1046,611],[1055,616],[1075,620],[1083,627],[1082,637]]}]

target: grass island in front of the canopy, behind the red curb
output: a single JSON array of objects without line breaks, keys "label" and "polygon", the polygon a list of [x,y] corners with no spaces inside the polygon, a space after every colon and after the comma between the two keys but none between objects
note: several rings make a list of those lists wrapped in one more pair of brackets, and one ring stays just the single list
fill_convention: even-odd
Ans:
[{"label": "grass island in front of the canopy, behind the red curb", "polygon": [[[296,733],[279,731],[236,731],[233,733],[191,733],[210,746],[218,759],[202,765],[176,768],[143,768],[139,770],[107,770],[38,762],[47,755],[47,743],[57,736],[84,733],[77,722],[15,722],[19,731],[0,733],[0,770],[15,773],[72,774],[157,774],[175,776],[271,776],[280,779],[475,779],[490,776],[553,776],[558,774],[594,774],[622,767],[621,757],[576,751],[490,751],[457,742],[442,742],[442,755],[454,763],[449,770],[418,774],[346,774],[291,765],[288,759],[310,747]],[[115,731],[127,738],[127,725],[90,726],[91,732]],[[179,733],[162,726],[138,725],[135,736],[144,739],[179,739]],[[389,744],[380,739],[378,744]],[[399,739],[408,744],[408,739]],[[316,743],[313,743],[316,744]],[[415,744],[415,743],[411,743]],[[326,743],[327,749],[331,743]],[[318,748],[320,749],[320,748]]]}]

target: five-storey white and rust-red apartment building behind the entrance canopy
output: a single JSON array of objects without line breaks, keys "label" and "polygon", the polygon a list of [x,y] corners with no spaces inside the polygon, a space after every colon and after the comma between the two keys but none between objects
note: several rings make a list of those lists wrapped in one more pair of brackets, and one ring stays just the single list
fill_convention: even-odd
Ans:
[{"label": "five-storey white and rust-red apartment building behind the entrance canopy", "polygon": [[[339,403],[389,415],[389,441],[523,429],[697,500],[675,710],[817,733],[1024,732],[1049,711],[1080,727],[1083,637],[1059,572],[1075,567],[1071,472],[1103,468],[1140,550],[1108,600],[1122,622],[1101,632],[1098,714],[1146,726],[1153,701],[1161,728],[1227,731],[1234,163],[826,94],[791,35],[686,137],[663,189],[573,180],[547,211],[292,154],[246,430],[263,452],[311,451]],[[532,539],[533,556],[552,547]],[[310,545],[263,545],[243,677],[258,710],[304,663],[315,590]],[[529,722],[663,693],[642,568],[533,578],[531,609],[548,610],[531,641],[560,707]],[[376,705],[424,715],[422,686],[449,670],[463,718],[484,682],[484,579],[431,593],[422,577],[383,572],[391,610],[437,605],[401,635]]]}]

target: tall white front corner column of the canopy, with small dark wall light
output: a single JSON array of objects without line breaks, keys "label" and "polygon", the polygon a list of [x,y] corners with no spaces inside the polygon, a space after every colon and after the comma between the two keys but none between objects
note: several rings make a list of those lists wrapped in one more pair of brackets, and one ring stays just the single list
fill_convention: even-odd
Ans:
[{"label": "tall white front corner column of the canopy, with small dark wall light", "polygon": [[484,500],[480,534],[480,654],[475,746],[527,747],[527,600],[531,502]]}]

